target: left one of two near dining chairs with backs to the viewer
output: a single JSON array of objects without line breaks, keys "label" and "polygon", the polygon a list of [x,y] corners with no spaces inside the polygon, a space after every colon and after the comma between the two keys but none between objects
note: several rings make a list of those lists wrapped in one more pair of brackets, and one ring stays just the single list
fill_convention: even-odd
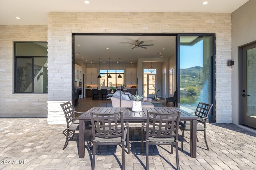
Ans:
[{"label": "left one of two near dining chairs with backs to the viewer", "polygon": [[130,153],[130,144],[129,123],[126,122],[124,125],[123,112],[90,112],[90,117],[92,122],[92,170],[95,168],[96,145],[122,145],[122,170],[124,170],[124,141],[126,141],[126,138],[128,154]]}]

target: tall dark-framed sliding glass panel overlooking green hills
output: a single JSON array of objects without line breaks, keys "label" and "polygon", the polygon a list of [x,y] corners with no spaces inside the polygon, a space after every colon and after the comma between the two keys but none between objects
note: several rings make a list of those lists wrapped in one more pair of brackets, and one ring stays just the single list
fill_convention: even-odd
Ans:
[{"label": "tall dark-framed sliding glass panel overlooking green hills", "polygon": [[[214,35],[178,35],[178,106],[194,112],[199,102],[214,102]],[[209,121],[214,122],[214,109]]]}]

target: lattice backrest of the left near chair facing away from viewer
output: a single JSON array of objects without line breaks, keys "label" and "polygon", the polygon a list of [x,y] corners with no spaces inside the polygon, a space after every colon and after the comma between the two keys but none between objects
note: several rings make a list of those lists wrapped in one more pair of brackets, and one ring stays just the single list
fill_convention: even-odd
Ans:
[{"label": "lattice backrest of the left near chair facing away from viewer", "polygon": [[90,112],[92,122],[92,139],[116,138],[124,139],[124,116],[123,112],[117,113],[92,113]]}]

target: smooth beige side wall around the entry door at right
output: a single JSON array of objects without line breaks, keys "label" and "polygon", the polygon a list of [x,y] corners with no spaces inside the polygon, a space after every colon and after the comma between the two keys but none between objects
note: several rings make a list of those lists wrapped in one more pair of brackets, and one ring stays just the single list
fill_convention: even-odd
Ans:
[{"label": "smooth beige side wall around the entry door at right", "polygon": [[232,13],[232,123],[238,124],[238,47],[256,41],[256,0],[249,0]]}]

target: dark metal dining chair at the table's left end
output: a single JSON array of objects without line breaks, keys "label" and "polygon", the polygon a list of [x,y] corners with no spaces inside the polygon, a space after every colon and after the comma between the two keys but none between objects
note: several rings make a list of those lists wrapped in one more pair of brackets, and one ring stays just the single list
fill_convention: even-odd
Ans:
[{"label": "dark metal dining chair at the table's left end", "polygon": [[[65,118],[66,118],[66,123],[67,123],[67,133],[66,133],[66,142],[64,144],[64,147],[62,150],[64,150],[67,146],[68,146],[68,138],[70,137],[70,132],[72,132],[72,137],[71,137],[71,141],[73,140],[75,131],[79,131],[79,121],[75,116],[75,113],[80,113],[82,114],[82,112],[78,112],[74,110],[74,107],[72,106],[72,104],[70,102],[66,102],[64,104],[60,104],[60,107],[62,108]],[[87,127],[89,131],[89,135],[90,135],[90,149],[92,147],[91,144],[91,129],[90,127]]]}]

